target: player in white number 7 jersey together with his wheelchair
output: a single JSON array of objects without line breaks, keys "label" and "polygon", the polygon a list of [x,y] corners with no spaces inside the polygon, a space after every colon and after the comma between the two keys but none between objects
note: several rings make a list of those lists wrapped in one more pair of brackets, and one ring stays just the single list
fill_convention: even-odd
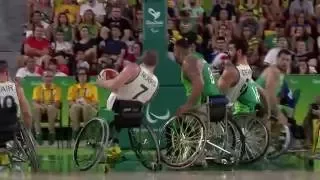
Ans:
[{"label": "player in white number 7 jersey together with his wheelchair", "polygon": [[[114,118],[112,122],[108,122],[109,117],[93,118],[80,131],[74,149],[74,161],[80,170],[88,170],[98,162],[114,164],[121,152],[115,139],[124,128],[128,129],[132,150],[141,163],[150,170],[160,167],[158,140],[144,121],[143,112],[144,104],[158,90],[158,79],[153,74],[157,64],[156,53],[147,51],[142,62],[141,65],[127,62],[120,73],[112,69],[100,72],[97,85],[112,91],[106,104]],[[105,148],[108,149],[107,156]],[[94,150],[89,158],[86,149]]]}]

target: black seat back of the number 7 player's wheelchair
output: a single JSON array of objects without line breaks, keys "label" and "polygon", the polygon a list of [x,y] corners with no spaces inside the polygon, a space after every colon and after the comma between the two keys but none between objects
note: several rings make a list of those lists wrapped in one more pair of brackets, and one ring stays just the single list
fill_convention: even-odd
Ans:
[{"label": "black seat back of the number 7 player's wheelchair", "polygon": [[143,104],[139,101],[116,100],[112,110],[116,114],[114,124],[116,128],[140,127],[144,113]]}]

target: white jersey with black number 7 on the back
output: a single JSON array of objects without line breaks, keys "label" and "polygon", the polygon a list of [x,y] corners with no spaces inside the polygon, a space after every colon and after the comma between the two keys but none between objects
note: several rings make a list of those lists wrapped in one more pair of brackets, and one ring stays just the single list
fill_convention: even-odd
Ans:
[{"label": "white jersey with black number 7 on the back", "polygon": [[140,65],[138,76],[118,89],[116,99],[149,102],[159,87],[158,78],[148,69]]}]

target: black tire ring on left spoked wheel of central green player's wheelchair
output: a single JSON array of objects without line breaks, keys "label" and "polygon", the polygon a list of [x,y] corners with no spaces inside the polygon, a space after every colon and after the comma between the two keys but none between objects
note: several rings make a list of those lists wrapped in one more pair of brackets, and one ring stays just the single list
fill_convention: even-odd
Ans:
[{"label": "black tire ring on left spoked wheel of central green player's wheelchair", "polygon": [[[207,137],[206,137],[206,134],[207,134],[207,128],[206,128],[206,125],[205,123],[194,113],[185,113],[183,114],[184,116],[192,116],[197,122],[199,122],[200,126],[203,128],[203,132],[204,132],[204,136],[203,136],[203,139],[201,140],[203,143],[201,145],[201,147],[199,148],[200,151],[198,151],[197,153],[195,153],[193,155],[193,157],[191,156],[190,158],[188,158],[188,160],[185,160],[184,162],[181,162],[181,163],[171,163],[167,160],[166,158],[166,155],[164,155],[161,150],[163,148],[161,148],[160,150],[160,157],[161,157],[161,161],[163,163],[165,163],[169,168],[171,169],[175,169],[175,170],[180,170],[180,169],[185,169],[191,165],[193,165],[193,163],[204,153],[204,150],[205,150],[205,144],[206,144],[206,140],[207,140]],[[176,117],[172,117],[171,119],[169,119],[165,125],[161,128],[161,133],[163,134],[163,132],[166,131],[166,128],[167,126],[173,122],[174,120],[176,120],[177,118]],[[161,138],[159,140],[159,144],[161,146]]]}]

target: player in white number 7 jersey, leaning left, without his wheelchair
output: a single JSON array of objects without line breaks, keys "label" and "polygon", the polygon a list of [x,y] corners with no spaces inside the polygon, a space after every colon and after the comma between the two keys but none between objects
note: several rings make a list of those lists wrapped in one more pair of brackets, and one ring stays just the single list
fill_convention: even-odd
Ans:
[{"label": "player in white number 7 jersey, leaning left, without his wheelchair", "polygon": [[126,63],[124,69],[115,78],[97,80],[97,85],[112,91],[107,108],[112,109],[115,100],[133,100],[148,103],[159,87],[158,78],[153,74],[157,65],[157,55],[147,51],[142,64]]}]

